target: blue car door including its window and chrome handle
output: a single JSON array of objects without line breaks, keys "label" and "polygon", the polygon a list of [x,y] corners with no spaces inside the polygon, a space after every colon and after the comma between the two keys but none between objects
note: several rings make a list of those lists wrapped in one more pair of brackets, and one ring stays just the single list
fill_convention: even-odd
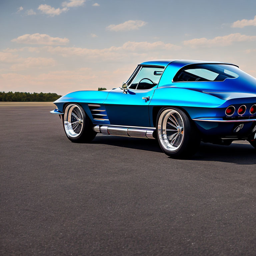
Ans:
[{"label": "blue car door including its window and chrome handle", "polygon": [[138,66],[127,81],[128,90],[116,88],[104,102],[110,124],[149,127],[149,103],[163,72],[158,66]]}]

